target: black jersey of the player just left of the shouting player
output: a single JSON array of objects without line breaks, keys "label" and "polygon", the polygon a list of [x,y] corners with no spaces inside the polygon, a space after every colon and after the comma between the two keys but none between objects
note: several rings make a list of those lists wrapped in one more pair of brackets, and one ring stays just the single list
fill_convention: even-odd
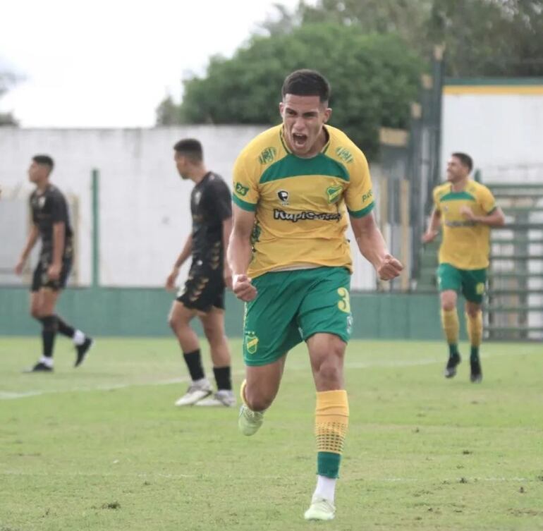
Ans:
[{"label": "black jersey of the player just left of the shouting player", "polygon": [[230,190],[219,175],[209,171],[190,194],[193,215],[193,264],[222,264],[224,250],[222,222],[232,216]]}]

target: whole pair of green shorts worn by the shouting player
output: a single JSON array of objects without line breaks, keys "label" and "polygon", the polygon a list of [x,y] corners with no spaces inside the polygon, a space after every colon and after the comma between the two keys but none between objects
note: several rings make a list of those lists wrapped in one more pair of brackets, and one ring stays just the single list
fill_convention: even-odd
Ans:
[{"label": "whole pair of green shorts worn by the shouting player", "polygon": [[343,267],[264,273],[252,281],[258,291],[245,305],[245,365],[267,365],[313,334],[325,332],[347,343],[350,274]]}]

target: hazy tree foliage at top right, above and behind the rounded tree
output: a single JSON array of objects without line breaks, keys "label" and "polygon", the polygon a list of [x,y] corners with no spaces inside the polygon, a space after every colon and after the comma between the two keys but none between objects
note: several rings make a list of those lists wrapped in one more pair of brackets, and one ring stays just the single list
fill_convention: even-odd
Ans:
[{"label": "hazy tree foliage at top right, above and behind the rounded tree", "polygon": [[275,25],[291,20],[393,33],[422,57],[445,44],[449,75],[543,75],[543,0],[319,0]]}]

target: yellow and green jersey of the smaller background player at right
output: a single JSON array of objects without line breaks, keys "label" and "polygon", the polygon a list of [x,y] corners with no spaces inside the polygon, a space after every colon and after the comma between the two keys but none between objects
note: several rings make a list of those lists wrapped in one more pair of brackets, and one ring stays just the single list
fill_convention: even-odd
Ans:
[{"label": "yellow and green jersey of the smaller background player at right", "polygon": [[441,214],[443,242],[439,248],[439,263],[458,269],[488,267],[490,227],[470,221],[460,209],[470,207],[476,216],[486,216],[496,209],[492,192],[484,185],[468,181],[461,192],[453,192],[451,183],[434,188],[434,205]]}]

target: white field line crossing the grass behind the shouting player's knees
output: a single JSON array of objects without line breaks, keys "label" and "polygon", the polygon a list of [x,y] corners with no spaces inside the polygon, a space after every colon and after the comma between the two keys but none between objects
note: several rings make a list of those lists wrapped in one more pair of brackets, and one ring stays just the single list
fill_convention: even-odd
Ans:
[{"label": "white field line crossing the grass behind the shouting player's knees", "polygon": [[[530,353],[500,353],[493,355],[485,355],[484,359],[489,358],[498,358],[503,356],[515,356],[515,355],[530,355]],[[418,367],[421,365],[432,365],[432,363],[442,363],[444,361],[444,356],[439,358],[423,358],[420,360],[391,360],[391,361],[377,361],[377,362],[346,362],[346,369],[371,369],[372,367],[382,367],[382,368],[398,368],[398,367]],[[286,370],[307,370],[307,367],[287,367]],[[237,371],[233,374],[238,376],[245,374],[244,371]],[[136,387],[136,386],[150,386],[150,385],[170,385],[170,384],[182,384],[183,382],[188,382],[188,377],[179,377],[171,378],[166,380],[149,380],[145,382],[128,382],[126,384],[114,384],[114,385],[97,385],[90,386],[85,388],[73,388],[73,389],[48,389],[43,391],[1,391],[0,390],[0,400],[16,400],[18,398],[28,398],[29,396],[41,396],[47,394],[56,394],[56,393],[78,393],[81,391],[113,391],[114,389],[126,389],[127,387]]]}]

